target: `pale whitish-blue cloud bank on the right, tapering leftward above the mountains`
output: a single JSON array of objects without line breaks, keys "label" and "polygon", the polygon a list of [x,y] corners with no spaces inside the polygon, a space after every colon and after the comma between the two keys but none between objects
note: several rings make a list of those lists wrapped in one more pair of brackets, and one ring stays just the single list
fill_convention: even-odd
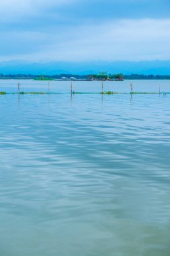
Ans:
[{"label": "pale whitish-blue cloud bank on the right, tapering leftward above the mountains", "polygon": [[[69,61],[170,59],[170,20],[119,20],[80,26],[48,55]],[[79,34],[81,31],[81,34]]]}]

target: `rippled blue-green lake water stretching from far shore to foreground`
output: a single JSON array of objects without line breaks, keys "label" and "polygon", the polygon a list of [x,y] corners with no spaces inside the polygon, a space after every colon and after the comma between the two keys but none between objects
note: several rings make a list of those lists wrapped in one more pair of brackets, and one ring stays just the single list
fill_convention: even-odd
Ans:
[{"label": "rippled blue-green lake water stretching from far shore to foreground", "polygon": [[[133,84],[170,92],[166,80]],[[69,90],[50,82],[68,94],[0,95],[0,255],[169,256],[170,94]],[[101,82],[73,90],[100,92]],[[0,80],[0,91],[17,92],[17,81]]]}]

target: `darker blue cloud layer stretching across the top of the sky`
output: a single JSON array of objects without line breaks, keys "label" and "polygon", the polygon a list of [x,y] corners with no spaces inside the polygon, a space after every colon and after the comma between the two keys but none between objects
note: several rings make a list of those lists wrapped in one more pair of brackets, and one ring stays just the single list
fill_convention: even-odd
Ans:
[{"label": "darker blue cloud layer stretching across the top of the sky", "polygon": [[0,22],[14,22],[16,26],[22,22],[27,29],[30,23],[38,28],[44,24],[65,25],[68,21],[81,24],[122,18],[169,18],[169,13],[169,0],[6,0],[1,1]]}]

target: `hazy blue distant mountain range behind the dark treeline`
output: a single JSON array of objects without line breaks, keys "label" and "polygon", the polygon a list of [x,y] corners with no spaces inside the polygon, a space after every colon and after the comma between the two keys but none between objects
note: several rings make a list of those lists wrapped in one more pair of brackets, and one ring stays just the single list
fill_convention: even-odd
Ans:
[{"label": "hazy blue distant mountain range behind the dark treeline", "polygon": [[108,73],[124,73],[126,75],[153,74],[170,75],[170,61],[91,61],[91,62],[64,62],[52,61],[34,63],[29,61],[3,61],[0,62],[0,73],[33,75],[77,74],[87,75],[107,71]]}]

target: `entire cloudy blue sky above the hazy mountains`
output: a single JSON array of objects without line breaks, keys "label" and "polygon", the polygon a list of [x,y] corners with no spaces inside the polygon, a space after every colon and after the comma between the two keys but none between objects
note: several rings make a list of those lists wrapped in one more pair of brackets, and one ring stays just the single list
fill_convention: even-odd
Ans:
[{"label": "entire cloudy blue sky above the hazy mountains", "polygon": [[169,0],[5,0],[0,61],[170,59]]}]

